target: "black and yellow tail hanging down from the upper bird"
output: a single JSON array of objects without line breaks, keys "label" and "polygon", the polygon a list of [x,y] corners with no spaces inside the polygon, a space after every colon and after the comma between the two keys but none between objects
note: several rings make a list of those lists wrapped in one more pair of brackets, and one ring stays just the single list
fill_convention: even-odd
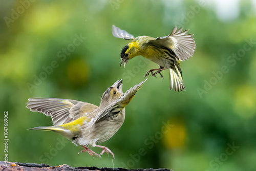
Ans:
[{"label": "black and yellow tail hanging down from the upper bird", "polygon": [[182,79],[182,72],[180,66],[174,65],[174,69],[169,69],[169,77],[170,77],[170,90],[174,88],[174,91],[183,91],[185,90],[185,86]]}]

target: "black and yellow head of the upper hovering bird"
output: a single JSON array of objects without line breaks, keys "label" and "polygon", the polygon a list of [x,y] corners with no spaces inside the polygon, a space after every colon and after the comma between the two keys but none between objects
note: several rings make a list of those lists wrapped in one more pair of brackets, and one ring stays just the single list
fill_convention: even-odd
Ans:
[{"label": "black and yellow head of the upper hovering bird", "polygon": [[120,66],[122,66],[122,63],[125,67],[128,60],[132,59],[135,56],[138,56],[139,52],[139,45],[137,41],[132,41],[129,44],[125,45],[121,51],[121,63]]}]

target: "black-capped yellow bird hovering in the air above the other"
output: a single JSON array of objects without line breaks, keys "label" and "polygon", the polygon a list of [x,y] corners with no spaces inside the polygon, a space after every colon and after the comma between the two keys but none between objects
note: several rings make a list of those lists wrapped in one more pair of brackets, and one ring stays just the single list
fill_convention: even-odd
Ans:
[{"label": "black-capped yellow bird hovering in the air above the other", "polygon": [[[193,34],[186,34],[188,30],[182,31],[182,29],[183,28],[177,29],[177,27],[175,27],[172,33],[164,37],[134,37],[132,34],[113,25],[112,34],[115,37],[132,40],[126,44],[121,51],[121,65],[123,63],[125,67],[128,60],[138,55],[144,56],[157,63],[160,67],[159,69],[148,71],[145,77],[150,73],[156,77],[156,74],[159,73],[163,78],[161,71],[169,69],[170,90],[173,88],[175,91],[185,90],[180,61],[193,56],[196,44]],[[153,71],[156,72],[153,73]]]}]

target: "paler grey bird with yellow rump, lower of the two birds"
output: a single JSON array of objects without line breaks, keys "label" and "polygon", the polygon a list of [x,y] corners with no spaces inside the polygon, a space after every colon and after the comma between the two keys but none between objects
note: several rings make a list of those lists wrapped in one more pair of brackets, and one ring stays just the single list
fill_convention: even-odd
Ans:
[{"label": "paler grey bird with yellow rump, lower of the two birds", "polygon": [[[108,147],[97,144],[110,139],[120,129],[125,117],[124,107],[145,81],[124,94],[122,79],[116,81],[103,93],[99,106],[69,99],[30,98],[27,108],[50,116],[54,126],[39,126],[29,130],[53,131],[67,137],[75,145],[82,146],[84,149],[81,152],[98,157],[106,152],[114,157]],[[102,152],[93,152],[89,145],[102,148]]]}]

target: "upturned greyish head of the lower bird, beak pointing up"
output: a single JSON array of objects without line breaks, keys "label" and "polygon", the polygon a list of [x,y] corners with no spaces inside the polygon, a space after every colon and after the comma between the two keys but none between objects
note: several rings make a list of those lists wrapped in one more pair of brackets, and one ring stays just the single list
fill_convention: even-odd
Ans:
[{"label": "upturned greyish head of the lower bird, beak pointing up", "polygon": [[102,95],[100,105],[109,105],[123,95],[122,81],[122,79],[117,80],[111,87],[106,89]]}]

